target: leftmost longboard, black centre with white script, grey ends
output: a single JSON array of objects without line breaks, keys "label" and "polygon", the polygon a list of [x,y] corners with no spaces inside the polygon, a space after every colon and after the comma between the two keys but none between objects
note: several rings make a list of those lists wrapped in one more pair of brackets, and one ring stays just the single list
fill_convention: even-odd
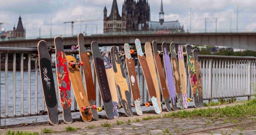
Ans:
[{"label": "leftmost longboard, black centre with white script, grey ends", "polygon": [[44,40],[40,40],[37,44],[37,49],[42,90],[47,107],[48,118],[52,125],[58,125],[58,103],[51,69],[50,54],[48,52],[46,42]]}]

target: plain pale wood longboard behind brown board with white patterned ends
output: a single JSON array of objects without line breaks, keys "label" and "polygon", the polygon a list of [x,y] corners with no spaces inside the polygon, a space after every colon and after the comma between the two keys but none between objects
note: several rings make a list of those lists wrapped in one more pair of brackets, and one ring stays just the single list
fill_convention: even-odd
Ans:
[{"label": "plain pale wood longboard behind brown board with white patterned ends", "polygon": [[158,80],[157,80],[156,67],[155,67],[155,63],[154,63],[154,57],[152,54],[151,44],[149,42],[146,42],[146,44],[145,44],[145,54],[146,54],[147,63],[149,65],[149,71],[150,71],[150,74],[151,74],[153,82],[154,82],[158,106],[159,106],[160,112],[162,112],[161,97],[160,97],[160,90],[159,90],[159,85],[158,85]]}]

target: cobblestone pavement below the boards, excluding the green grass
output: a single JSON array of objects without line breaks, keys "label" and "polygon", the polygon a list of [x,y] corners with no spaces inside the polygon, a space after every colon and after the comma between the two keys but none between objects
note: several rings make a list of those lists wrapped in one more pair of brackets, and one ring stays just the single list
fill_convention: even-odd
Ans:
[{"label": "cobblestone pavement below the boards, excluding the green grass", "polygon": [[[225,107],[226,105],[218,106]],[[230,106],[230,104],[229,104]],[[207,108],[207,107],[205,107]],[[215,108],[215,107],[211,107]],[[189,108],[192,110],[195,108]],[[61,122],[57,126],[48,124],[37,126],[23,126],[0,130],[5,133],[7,130],[37,131],[42,133],[42,129],[52,129],[52,134],[59,135],[255,135],[256,134],[256,116],[243,118],[226,117],[190,117],[190,118],[161,118],[161,115],[154,113],[144,113],[143,116],[125,117],[108,120],[106,117],[98,121],[82,122],[76,120],[71,124]],[[151,117],[150,117],[151,116]],[[156,117],[158,118],[152,118]],[[239,125],[240,124],[240,125]],[[72,126],[78,128],[74,132],[66,132],[65,127]]]}]

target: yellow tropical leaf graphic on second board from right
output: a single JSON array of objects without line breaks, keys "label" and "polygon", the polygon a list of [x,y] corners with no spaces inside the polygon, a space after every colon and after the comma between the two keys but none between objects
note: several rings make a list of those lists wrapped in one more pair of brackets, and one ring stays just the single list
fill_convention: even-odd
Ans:
[{"label": "yellow tropical leaf graphic on second board from right", "polygon": [[197,79],[195,75],[195,67],[194,67],[194,58],[191,55],[188,55],[188,71],[189,71],[189,77],[190,77],[190,83],[191,83],[191,88],[193,91],[194,98],[198,97],[198,88],[197,88]]}]

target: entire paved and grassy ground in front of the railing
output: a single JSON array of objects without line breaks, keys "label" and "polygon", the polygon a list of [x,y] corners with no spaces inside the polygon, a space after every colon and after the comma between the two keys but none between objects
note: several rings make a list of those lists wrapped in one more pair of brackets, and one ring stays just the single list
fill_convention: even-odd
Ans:
[{"label": "entire paved and grassy ground in front of the railing", "polygon": [[173,112],[144,112],[143,116],[125,117],[108,120],[102,117],[98,121],[82,122],[75,120],[71,124],[61,122],[57,126],[42,124],[21,126],[0,130],[29,131],[33,134],[256,134],[256,100],[244,103],[232,103],[209,106],[201,109],[189,108]]}]

